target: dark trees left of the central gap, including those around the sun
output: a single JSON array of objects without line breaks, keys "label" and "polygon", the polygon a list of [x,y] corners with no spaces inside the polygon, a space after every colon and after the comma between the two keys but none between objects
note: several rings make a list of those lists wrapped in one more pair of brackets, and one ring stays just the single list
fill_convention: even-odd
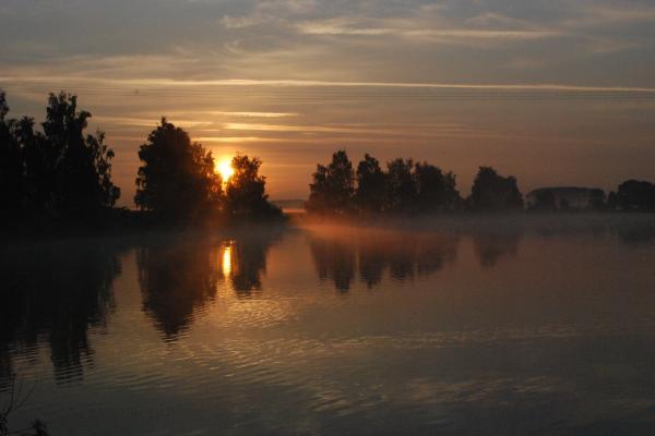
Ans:
[{"label": "dark trees left of the central gap, including those around the sun", "polygon": [[[92,114],[78,98],[50,94],[40,130],[32,117],[9,118],[0,89],[0,220],[17,225],[90,223],[111,215],[120,197],[105,133],[85,134]],[[278,216],[267,201],[262,161],[237,155],[223,181],[211,152],[165,118],[139,149],[134,203],[162,221],[217,216]]]}]

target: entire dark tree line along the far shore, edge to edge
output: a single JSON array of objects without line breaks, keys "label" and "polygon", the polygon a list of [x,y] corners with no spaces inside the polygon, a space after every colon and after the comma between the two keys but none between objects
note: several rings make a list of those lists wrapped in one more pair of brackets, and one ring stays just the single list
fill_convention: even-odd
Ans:
[{"label": "entire dark tree line along the far shore, edge to edge", "polygon": [[[0,90],[0,220],[24,225],[98,223],[112,217],[121,191],[111,173],[114,150],[105,133],[85,133],[92,114],[78,98],[50,94],[40,130],[34,118],[9,118]],[[234,175],[222,180],[212,153],[182,129],[162,119],[139,149],[141,166],[134,204],[155,221],[217,217],[278,217],[269,202],[261,159],[237,155]],[[553,204],[552,192],[541,202]],[[629,180],[596,208],[655,211],[655,185]],[[452,171],[426,161],[396,158],[383,168],[365,155],[357,167],[345,150],[318,165],[306,208],[315,214],[426,214],[454,210],[523,210],[516,178],[480,167],[471,195],[463,198]],[[11,228],[11,226],[5,226]]]}]

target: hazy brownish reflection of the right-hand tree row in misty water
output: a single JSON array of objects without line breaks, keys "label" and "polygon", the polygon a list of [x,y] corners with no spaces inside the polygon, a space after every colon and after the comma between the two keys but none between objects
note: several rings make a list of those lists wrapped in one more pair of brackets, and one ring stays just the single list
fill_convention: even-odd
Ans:
[{"label": "hazy brownish reflection of the right-hand tree row in misty water", "polygon": [[[630,218],[630,219],[628,219]],[[483,268],[492,268],[507,257],[516,256],[524,235],[533,238],[600,238],[610,234],[626,244],[647,244],[655,240],[655,225],[647,216],[581,215],[552,221],[548,216],[522,220],[503,217],[484,221],[426,225],[416,228],[366,228],[357,226],[308,226],[310,251],[319,279],[331,280],[344,292],[354,280],[371,289],[385,277],[413,280],[441,270],[454,263],[462,239],[473,244]]]}]

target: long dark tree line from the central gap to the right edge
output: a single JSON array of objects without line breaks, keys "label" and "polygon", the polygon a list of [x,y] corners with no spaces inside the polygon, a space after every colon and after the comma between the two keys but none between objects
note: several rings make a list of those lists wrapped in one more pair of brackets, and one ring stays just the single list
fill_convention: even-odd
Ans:
[{"label": "long dark tree line from the central gap to the right edge", "polygon": [[[306,209],[322,215],[565,210],[567,207],[556,205],[553,192],[570,190],[537,190],[537,203],[526,205],[515,177],[479,167],[471,195],[464,198],[452,171],[404,158],[393,159],[382,168],[368,154],[355,168],[343,149],[332,155],[331,162],[317,165],[309,189]],[[572,190],[587,193],[590,210],[655,211],[655,184],[650,182],[628,180],[607,197],[602,190]]]}]

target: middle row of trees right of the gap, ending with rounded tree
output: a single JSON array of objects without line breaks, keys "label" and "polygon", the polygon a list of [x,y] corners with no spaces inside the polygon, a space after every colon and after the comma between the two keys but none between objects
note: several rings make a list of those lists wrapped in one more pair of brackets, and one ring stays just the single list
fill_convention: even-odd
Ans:
[{"label": "middle row of trees right of the gap, ending with rounded tree", "polygon": [[516,178],[480,167],[472,194],[462,198],[455,174],[426,161],[396,158],[383,169],[370,155],[353,167],[345,150],[318,165],[306,208],[317,214],[421,214],[454,211],[522,210]]}]

